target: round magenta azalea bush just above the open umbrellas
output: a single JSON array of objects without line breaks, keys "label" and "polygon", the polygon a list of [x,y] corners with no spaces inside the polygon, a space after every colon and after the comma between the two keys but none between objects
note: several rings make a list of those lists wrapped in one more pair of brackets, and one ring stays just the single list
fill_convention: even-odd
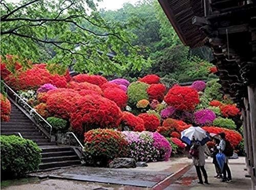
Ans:
[{"label": "round magenta azalea bush just above the open umbrellas", "polygon": [[195,112],[195,123],[197,125],[211,125],[215,120],[216,114],[209,109],[201,109]]}]

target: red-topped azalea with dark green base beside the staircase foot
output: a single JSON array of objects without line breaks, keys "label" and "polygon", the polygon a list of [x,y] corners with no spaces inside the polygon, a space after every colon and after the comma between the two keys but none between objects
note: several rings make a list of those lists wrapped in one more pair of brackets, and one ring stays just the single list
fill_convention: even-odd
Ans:
[{"label": "red-topped azalea with dark green base beside the staircase foot", "polygon": [[129,152],[125,136],[113,129],[94,129],[84,133],[84,154],[90,164],[107,165]]}]

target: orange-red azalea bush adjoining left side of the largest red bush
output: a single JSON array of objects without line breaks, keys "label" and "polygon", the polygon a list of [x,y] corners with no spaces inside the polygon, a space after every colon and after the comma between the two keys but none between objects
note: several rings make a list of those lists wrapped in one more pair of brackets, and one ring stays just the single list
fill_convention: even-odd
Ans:
[{"label": "orange-red azalea bush adjoining left side of the largest red bush", "polygon": [[50,114],[56,117],[68,119],[74,109],[75,102],[80,98],[78,93],[69,91],[53,93],[47,99],[47,109]]}]

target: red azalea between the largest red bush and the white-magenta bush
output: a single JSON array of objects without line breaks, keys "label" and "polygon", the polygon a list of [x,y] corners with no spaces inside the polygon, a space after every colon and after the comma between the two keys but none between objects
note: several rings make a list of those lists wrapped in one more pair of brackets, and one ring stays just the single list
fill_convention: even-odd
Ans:
[{"label": "red azalea between the largest red bush and the white-magenta bush", "polygon": [[121,125],[129,127],[132,131],[145,131],[144,121],[142,118],[135,116],[130,112],[124,111],[122,113]]}]

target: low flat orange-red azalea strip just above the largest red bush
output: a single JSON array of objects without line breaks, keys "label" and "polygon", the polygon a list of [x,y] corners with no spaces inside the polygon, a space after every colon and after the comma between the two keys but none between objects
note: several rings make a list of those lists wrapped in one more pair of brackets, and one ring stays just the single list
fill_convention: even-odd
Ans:
[{"label": "low flat orange-red azalea strip just above the largest red bush", "polygon": [[93,90],[98,92],[99,94],[102,94],[102,90],[98,85],[89,83],[89,82],[75,82],[75,81],[71,81],[68,83],[68,88],[72,88],[75,90]]}]

